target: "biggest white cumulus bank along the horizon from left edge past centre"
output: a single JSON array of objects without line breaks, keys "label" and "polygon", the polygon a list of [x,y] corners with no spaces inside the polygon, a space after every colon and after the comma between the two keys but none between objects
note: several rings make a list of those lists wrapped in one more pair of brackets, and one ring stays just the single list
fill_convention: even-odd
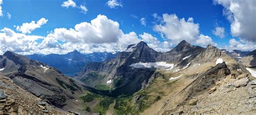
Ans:
[{"label": "biggest white cumulus bank along the horizon from left edge past centre", "polygon": [[90,22],[76,24],[73,28],[55,28],[45,37],[16,33],[10,28],[4,28],[0,31],[0,53],[8,50],[23,55],[65,54],[75,49],[82,53],[117,52],[125,51],[128,45],[139,41],[145,41],[161,52],[170,51],[172,47],[171,42],[160,42],[149,33],[124,33],[117,21],[98,15]]}]

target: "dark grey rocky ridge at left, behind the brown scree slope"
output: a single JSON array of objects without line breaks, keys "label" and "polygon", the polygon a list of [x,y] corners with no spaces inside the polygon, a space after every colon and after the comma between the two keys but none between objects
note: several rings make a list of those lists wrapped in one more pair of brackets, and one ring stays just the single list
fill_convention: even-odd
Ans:
[{"label": "dark grey rocky ridge at left, behind the brown scree slope", "polygon": [[16,85],[49,104],[62,108],[74,98],[72,94],[82,92],[79,84],[55,68],[9,51],[1,57],[4,70],[0,75],[10,77]]}]

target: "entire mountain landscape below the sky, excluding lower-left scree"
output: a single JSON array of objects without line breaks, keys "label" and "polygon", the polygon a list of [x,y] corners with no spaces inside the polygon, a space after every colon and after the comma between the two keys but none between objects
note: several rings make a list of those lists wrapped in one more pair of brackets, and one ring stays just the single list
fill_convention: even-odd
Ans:
[{"label": "entire mountain landscape below the sky, excluding lower-left scree", "polygon": [[[4,88],[0,97],[13,97],[9,83],[40,98],[39,105],[47,103],[40,113],[253,114],[255,51],[228,52],[212,45],[193,46],[185,40],[165,53],[143,41],[116,54],[74,51],[23,56],[8,51],[0,55],[0,75],[6,78],[0,81]],[[0,102],[8,98],[2,97]],[[19,108],[1,106],[3,113]],[[26,107],[24,111],[30,112]]]}]

